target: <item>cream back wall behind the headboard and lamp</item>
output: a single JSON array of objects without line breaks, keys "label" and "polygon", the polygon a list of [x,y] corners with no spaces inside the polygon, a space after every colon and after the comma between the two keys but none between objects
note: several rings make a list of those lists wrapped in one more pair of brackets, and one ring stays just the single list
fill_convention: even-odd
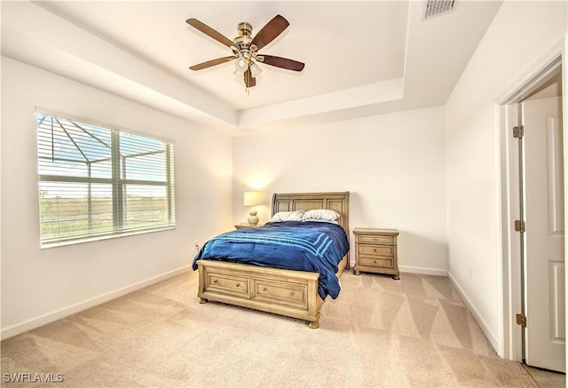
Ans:
[{"label": "cream back wall behind the headboard and lamp", "polygon": [[[403,270],[446,274],[443,108],[432,107],[233,140],[234,221],[242,193],[351,192],[351,229],[398,228]],[[352,248],[352,247],[351,247]]]}]

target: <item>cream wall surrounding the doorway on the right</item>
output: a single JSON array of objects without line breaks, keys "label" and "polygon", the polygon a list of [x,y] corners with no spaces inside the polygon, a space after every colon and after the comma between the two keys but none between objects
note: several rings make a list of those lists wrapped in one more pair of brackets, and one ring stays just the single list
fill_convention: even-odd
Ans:
[{"label": "cream wall surrounding the doorway on the right", "polygon": [[568,24],[566,6],[566,2],[504,2],[446,103],[449,275],[500,351],[496,103],[528,68],[561,44]]}]

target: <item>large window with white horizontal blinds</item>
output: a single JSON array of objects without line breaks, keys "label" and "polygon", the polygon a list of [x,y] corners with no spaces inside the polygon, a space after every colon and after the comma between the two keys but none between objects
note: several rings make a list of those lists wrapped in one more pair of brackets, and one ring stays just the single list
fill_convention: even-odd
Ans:
[{"label": "large window with white horizontal blinds", "polygon": [[176,226],[174,146],[36,114],[42,247]]}]

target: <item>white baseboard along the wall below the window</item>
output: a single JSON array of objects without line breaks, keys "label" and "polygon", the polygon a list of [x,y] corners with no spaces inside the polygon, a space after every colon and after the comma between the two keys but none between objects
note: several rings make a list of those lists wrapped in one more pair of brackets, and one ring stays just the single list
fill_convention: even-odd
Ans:
[{"label": "white baseboard along the wall below the window", "polygon": [[185,265],[181,268],[170,271],[169,273],[162,273],[161,275],[154,276],[153,278],[146,279],[145,281],[138,281],[137,283],[130,284],[130,286],[122,287],[122,289],[115,289],[114,291],[107,292],[106,294],[100,295],[99,297],[92,297],[91,299],[85,300],[75,305],[67,306],[55,312],[43,314],[32,320],[12,325],[9,328],[3,328],[2,331],[0,331],[0,338],[6,339],[17,336],[18,334],[21,334],[25,331],[39,328],[40,326],[46,325],[53,321],[58,321],[69,315],[82,312],[83,310],[91,308],[95,305],[100,305],[102,303],[108,302],[109,300],[112,300],[116,297],[122,297],[123,295],[130,294],[130,292],[132,291],[136,291],[137,289],[143,289],[147,286],[157,283],[158,281],[164,281],[178,274],[186,273],[190,270],[191,265]]}]

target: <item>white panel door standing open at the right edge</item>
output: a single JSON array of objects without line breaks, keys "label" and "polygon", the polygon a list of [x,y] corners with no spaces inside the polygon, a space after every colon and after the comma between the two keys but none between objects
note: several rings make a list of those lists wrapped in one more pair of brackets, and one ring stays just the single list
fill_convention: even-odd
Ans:
[{"label": "white panel door standing open at the right edge", "polygon": [[562,98],[521,104],[525,128],[525,362],[565,372]]}]

